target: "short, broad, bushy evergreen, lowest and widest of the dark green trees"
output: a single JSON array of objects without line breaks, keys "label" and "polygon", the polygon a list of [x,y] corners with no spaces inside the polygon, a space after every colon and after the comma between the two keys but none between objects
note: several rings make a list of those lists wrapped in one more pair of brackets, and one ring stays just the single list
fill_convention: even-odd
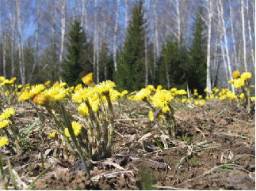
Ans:
[{"label": "short, broad, bushy evergreen, lowest and widest of the dark green trees", "polygon": [[[185,47],[178,47],[178,42],[171,37],[162,48],[159,69],[156,73],[158,83],[163,88],[185,89],[187,85],[185,64],[188,59],[188,51]],[[170,81],[170,87],[168,87],[168,81]]]}]

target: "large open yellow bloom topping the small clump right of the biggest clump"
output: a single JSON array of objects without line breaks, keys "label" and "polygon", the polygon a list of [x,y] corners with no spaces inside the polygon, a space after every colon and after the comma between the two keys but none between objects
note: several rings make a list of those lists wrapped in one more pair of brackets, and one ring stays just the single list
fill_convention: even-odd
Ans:
[{"label": "large open yellow bloom topping the small clump right of the biggest clump", "polygon": [[170,91],[165,89],[156,92],[151,98],[155,107],[165,107],[171,99],[174,99],[174,97],[171,95]]}]

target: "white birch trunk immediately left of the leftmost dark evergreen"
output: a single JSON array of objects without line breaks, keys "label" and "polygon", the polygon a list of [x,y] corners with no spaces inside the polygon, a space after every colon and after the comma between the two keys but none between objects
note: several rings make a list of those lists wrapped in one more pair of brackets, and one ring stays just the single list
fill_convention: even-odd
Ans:
[{"label": "white birch trunk immediately left of the leftmost dark evergreen", "polygon": [[60,53],[59,53],[59,63],[63,62],[63,52],[64,52],[64,40],[65,40],[65,32],[66,32],[66,1],[62,2],[63,5],[61,7],[61,40],[60,40]]}]

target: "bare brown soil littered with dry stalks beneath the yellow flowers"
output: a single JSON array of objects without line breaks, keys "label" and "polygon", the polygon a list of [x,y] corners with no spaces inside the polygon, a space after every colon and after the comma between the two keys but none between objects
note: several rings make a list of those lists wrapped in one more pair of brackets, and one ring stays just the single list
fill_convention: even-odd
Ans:
[{"label": "bare brown soil littered with dry stalks beneath the yellow flowers", "polygon": [[[129,107],[133,122],[126,107],[122,115],[116,108],[112,155],[93,161],[91,178],[73,156],[53,157],[55,144],[45,132],[52,132],[54,124],[46,115],[44,144],[40,130],[34,129],[29,152],[11,158],[23,189],[43,171],[42,147],[45,167],[56,164],[34,189],[255,189],[254,108],[247,114],[243,107],[220,101],[181,107],[175,112],[178,135],[162,137],[168,148],[161,151],[152,137],[154,133],[160,140],[161,133],[147,119],[148,108],[138,104]],[[24,125],[36,119],[27,110],[17,112]],[[4,166],[8,172],[6,160]]]}]

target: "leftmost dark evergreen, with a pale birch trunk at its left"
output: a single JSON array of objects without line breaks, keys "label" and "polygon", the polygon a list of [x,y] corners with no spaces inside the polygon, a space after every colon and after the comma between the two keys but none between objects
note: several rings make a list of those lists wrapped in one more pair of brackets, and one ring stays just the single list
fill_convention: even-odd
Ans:
[{"label": "leftmost dark evergreen, with a pale birch trunk at its left", "polygon": [[67,60],[63,62],[63,80],[69,86],[82,83],[83,65],[85,64],[82,54],[86,49],[86,34],[80,23],[75,21],[68,33]]}]

